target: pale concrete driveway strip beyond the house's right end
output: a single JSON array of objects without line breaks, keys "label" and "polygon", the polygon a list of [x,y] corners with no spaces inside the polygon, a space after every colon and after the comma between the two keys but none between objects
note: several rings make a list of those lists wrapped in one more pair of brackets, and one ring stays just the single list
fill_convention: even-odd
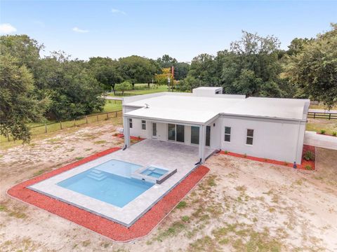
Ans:
[{"label": "pale concrete driveway strip beyond the house's right end", "polygon": [[305,132],[304,144],[337,150],[337,137],[324,136],[316,132]]}]

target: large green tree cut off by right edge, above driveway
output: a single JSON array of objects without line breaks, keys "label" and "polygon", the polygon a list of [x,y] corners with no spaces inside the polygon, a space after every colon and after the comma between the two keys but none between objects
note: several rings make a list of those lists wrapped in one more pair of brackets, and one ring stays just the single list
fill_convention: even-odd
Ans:
[{"label": "large green tree cut off by right edge, above driveway", "polygon": [[337,24],[331,31],[318,34],[289,59],[286,69],[290,80],[302,94],[323,102],[327,108],[337,104]]}]

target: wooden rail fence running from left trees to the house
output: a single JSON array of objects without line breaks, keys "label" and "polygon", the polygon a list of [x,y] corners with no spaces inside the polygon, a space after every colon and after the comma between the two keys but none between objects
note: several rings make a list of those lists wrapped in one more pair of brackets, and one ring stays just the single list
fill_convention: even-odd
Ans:
[{"label": "wooden rail fence running from left trees to the house", "polygon": [[[77,127],[79,125],[85,125],[88,123],[94,123],[101,120],[109,120],[112,118],[119,118],[123,115],[122,111],[111,111],[111,112],[105,112],[105,113],[97,113],[89,116],[81,116],[79,118],[76,118],[74,120],[67,120],[67,121],[59,121],[56,123],[45,123],[43,125],[37,125],[33,127],[29,127],[30,132],[32,135],[37,134],[44,134],[48,132],[54,132],[57,130],[63,130],[70,127]],[[1,136],[2,138],[2,136]],[[12,138],[7,135],[6,136],[7,141],[11,141]],[[1,141],[4,141],[4,139],[1,139]]]}]

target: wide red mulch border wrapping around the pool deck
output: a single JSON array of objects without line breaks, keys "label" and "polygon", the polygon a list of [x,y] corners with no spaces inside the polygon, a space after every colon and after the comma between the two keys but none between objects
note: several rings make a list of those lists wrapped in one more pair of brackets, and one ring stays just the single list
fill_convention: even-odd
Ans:
[{"label": "wide red mulch border wrapping around the pool deck", "polygon": [[56,214],[69,221],[77,223],[84,228],[98,232],[100,235],[114,239],[115,241],[130,241],[139,237],[144,237],[173,209],[173,207],[180,202],[180,200],[192,190],[192,188],[209,172],[209,168],[199,166],[194,169],[183,181],[181,181],[175,188],[173,188],[167,195],[165,195],[157,204],[152,207],[147,213],[136,221],[130,228],[124,225],[107,220],[101,216],[91,214],[88,211],[79,209],[65,202],[60,202],[46,195],[29,190],[26,187],[32,186],[34,183],[48,179],[51,176],[60,174],[67,170],[73,169],[103,155],[107,155],[120,148],[110,148],[106,151],[96,153],[88,158],[84,158],[74,162],[65,167],[55,169],[52,172],[42,174],[28,181],[19,183],[8,190],[8,195],[11,195],[19,200],[32,204],[36,207],[44,209]]}]

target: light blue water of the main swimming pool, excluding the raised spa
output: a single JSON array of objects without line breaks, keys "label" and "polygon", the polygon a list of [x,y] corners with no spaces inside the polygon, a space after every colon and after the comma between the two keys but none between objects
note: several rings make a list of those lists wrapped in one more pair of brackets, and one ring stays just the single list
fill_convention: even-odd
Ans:
[{"label": "light blue water of the main swimming pool, excluding the raised spa", "polygon": [[58,186],[116,207],[124,207],[154,185],[130,177],[131,173],[139,168],[139,165],[110,160],[65,179],[59,182]]}]

